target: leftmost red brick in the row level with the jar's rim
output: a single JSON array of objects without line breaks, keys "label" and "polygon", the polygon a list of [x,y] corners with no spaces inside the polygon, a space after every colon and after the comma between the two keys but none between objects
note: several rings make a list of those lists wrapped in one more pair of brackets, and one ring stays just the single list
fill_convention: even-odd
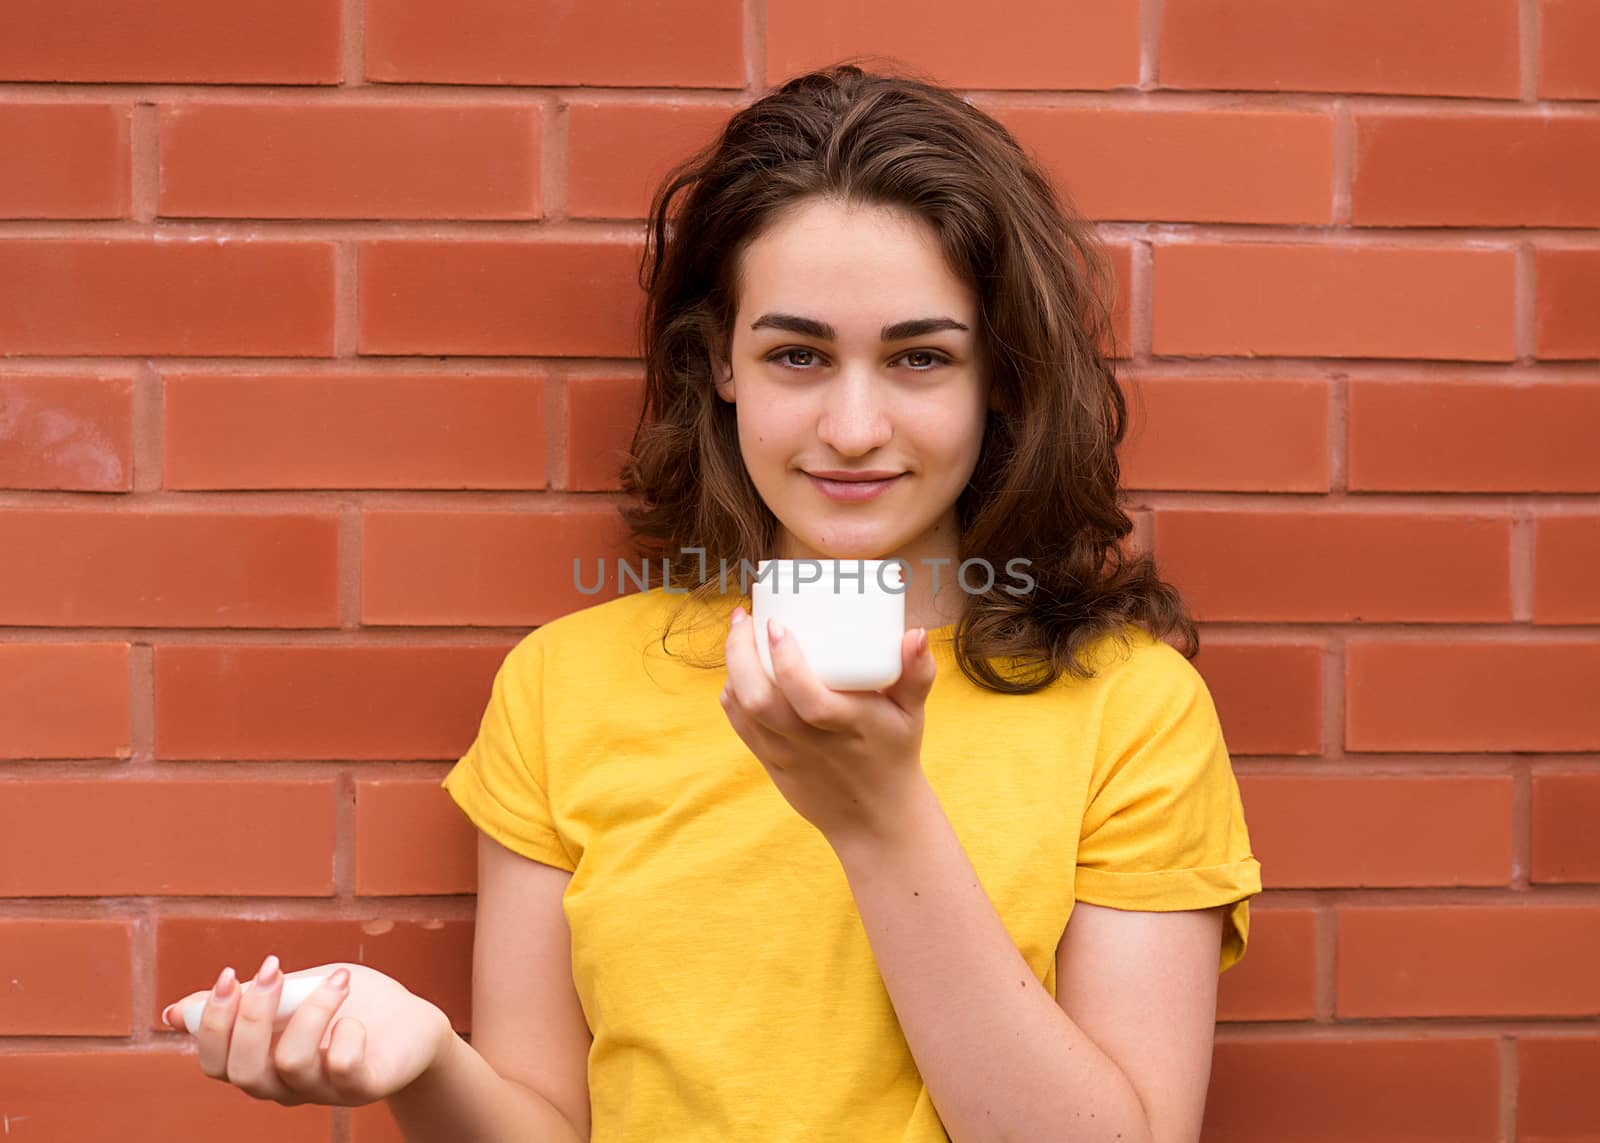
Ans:
[{"label": "leftmost red brick in the row level with the jar's rim", "polygon": [[[0,512],[0,623],[333,628],[336,512]],[[227,552],[219,559],[218,552]]]}]

